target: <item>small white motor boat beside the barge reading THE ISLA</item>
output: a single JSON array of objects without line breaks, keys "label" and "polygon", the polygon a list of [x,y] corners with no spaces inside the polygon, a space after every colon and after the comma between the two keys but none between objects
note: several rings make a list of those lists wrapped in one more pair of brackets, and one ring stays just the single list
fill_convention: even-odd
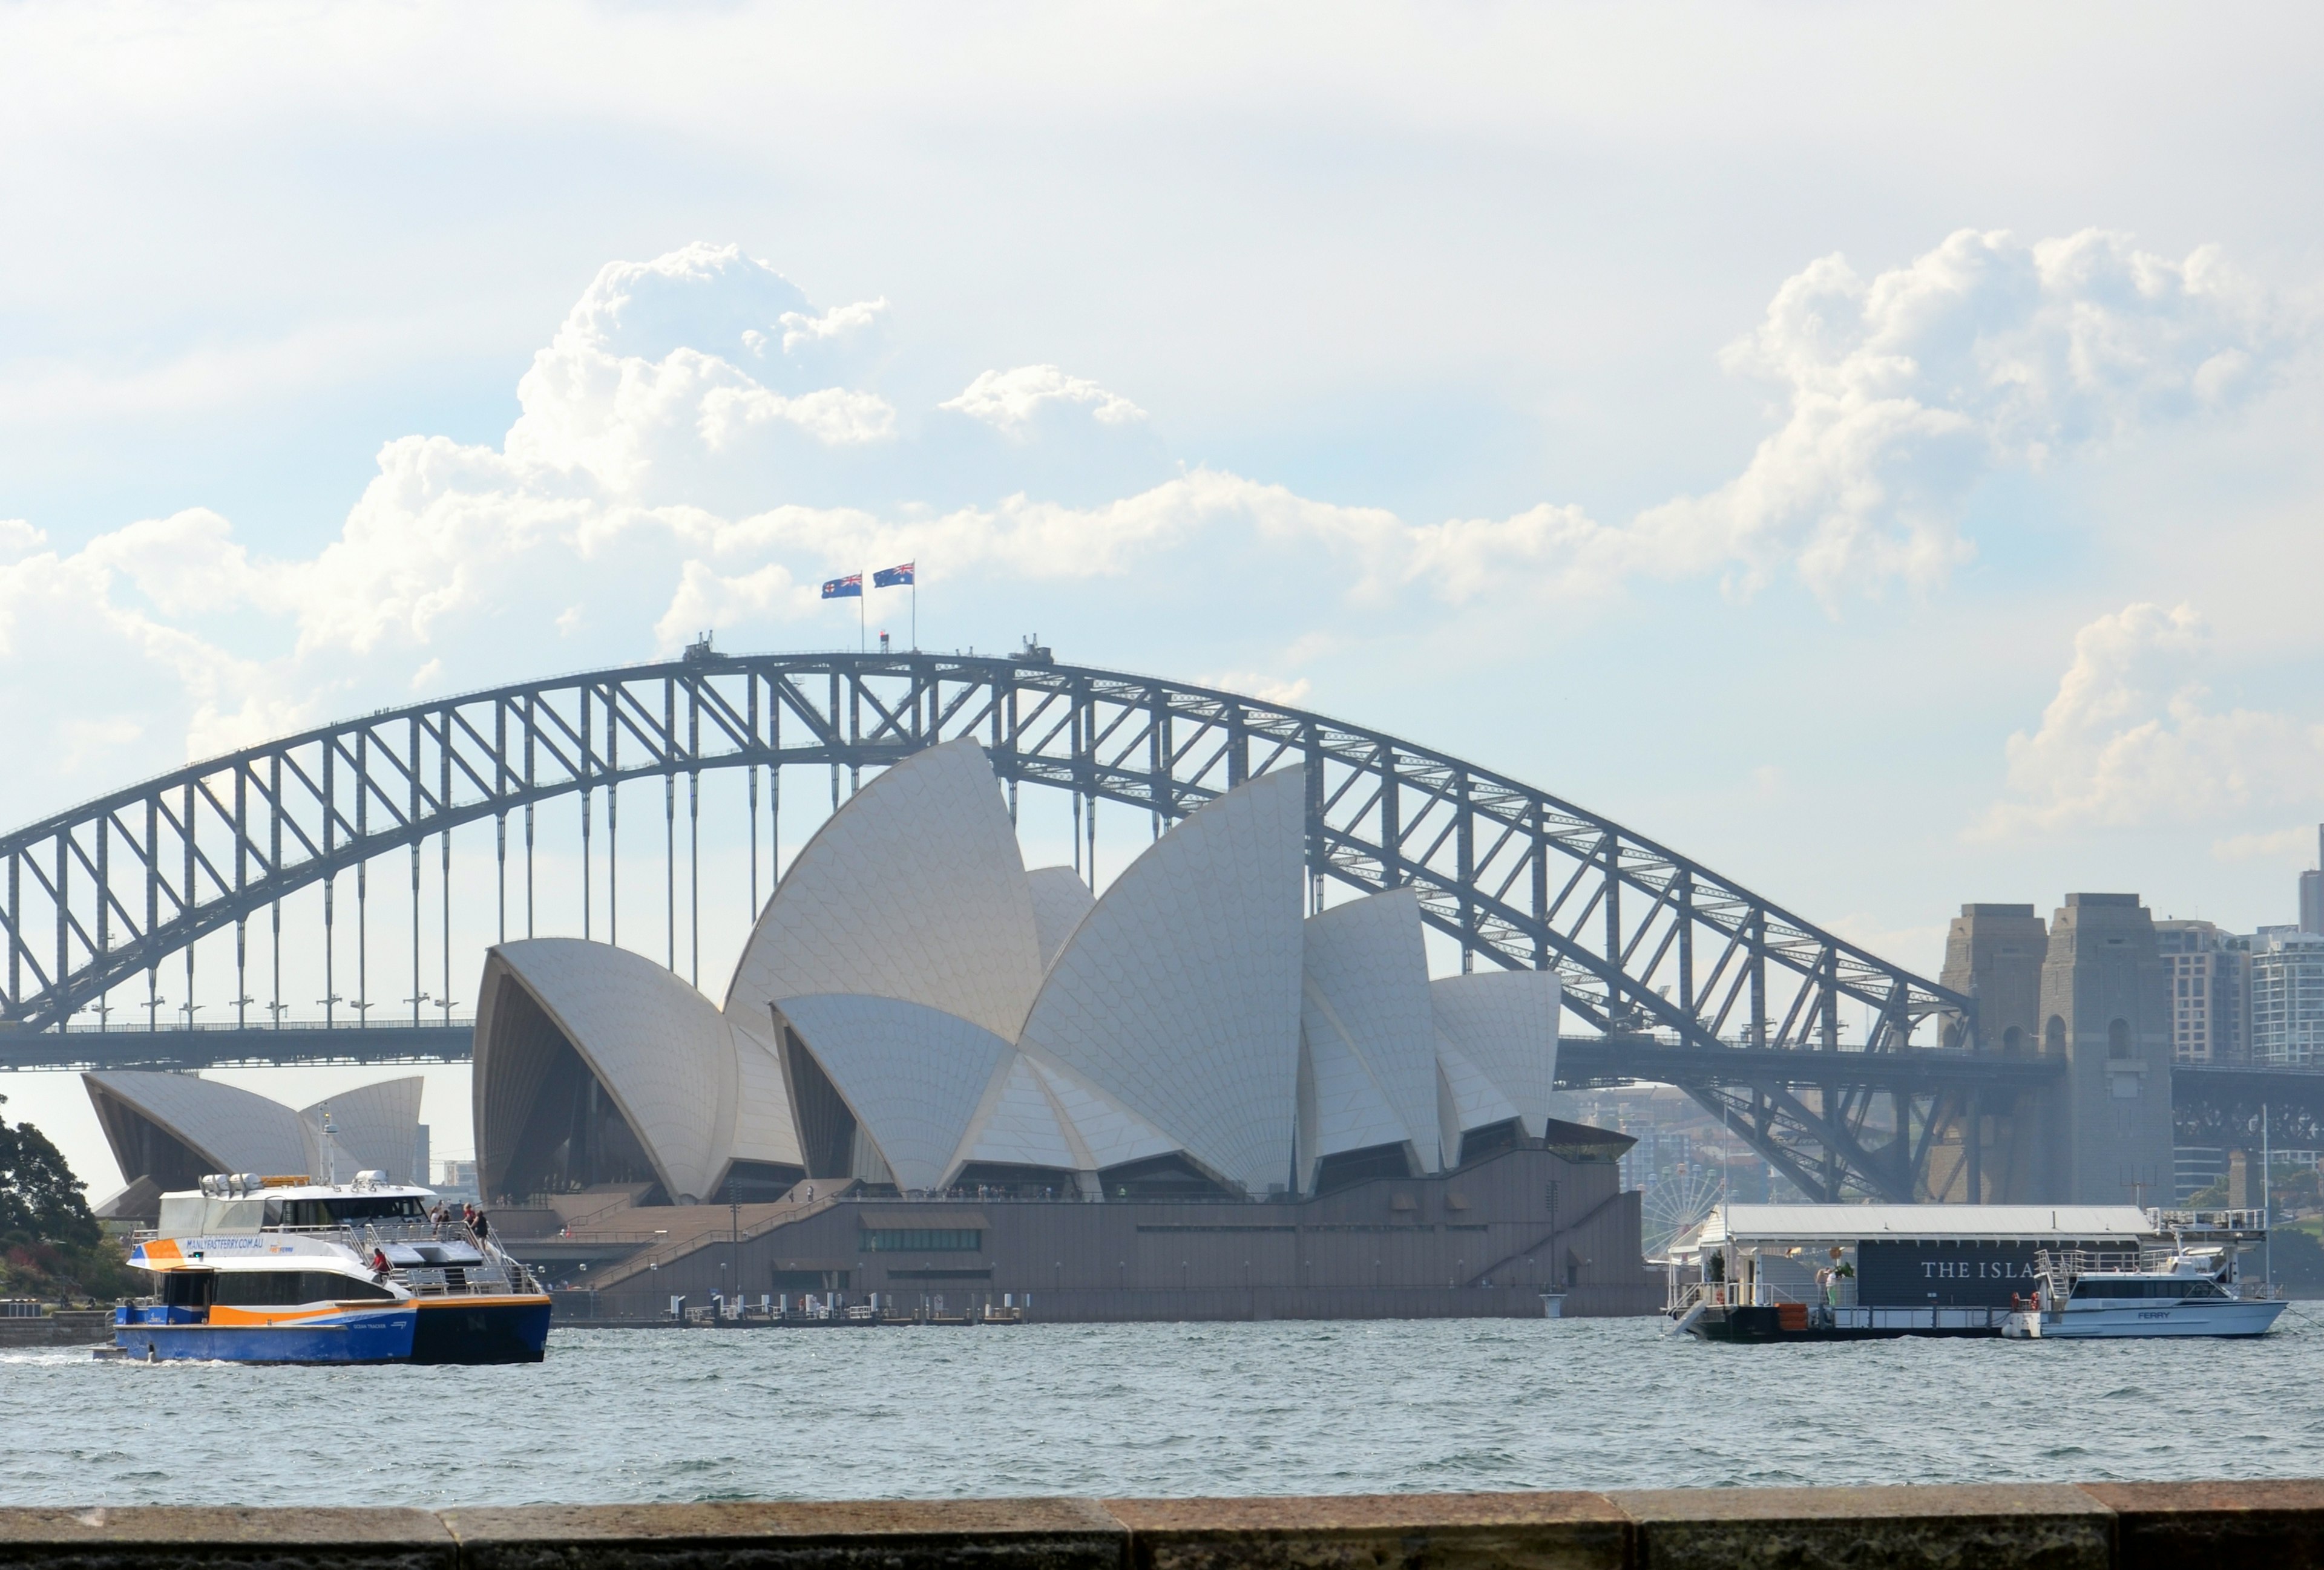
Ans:
[{"label": "small white motor boat beside the barge reading THE ISLA", "polygon": [[2033,1294],[2001,1333],[2013,1340],[2082,1340],[2115,1335],[2266,1335],[2282,1298],[2245,1294],[2236,1249],[2033,1254]]}]

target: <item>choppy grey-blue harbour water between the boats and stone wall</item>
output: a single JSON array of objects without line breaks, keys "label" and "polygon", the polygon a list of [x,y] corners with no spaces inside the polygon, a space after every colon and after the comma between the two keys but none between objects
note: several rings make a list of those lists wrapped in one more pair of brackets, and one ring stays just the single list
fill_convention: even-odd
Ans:
[{"label": "choppy grey-blue harbour water between the boats and stone wall", "polygon": [[1188,1496],[2324,1475],[2254,1342],[1710,1347],[1657,1319],[558,1331],[530,1368],[0,1354],[0,1503]]}]

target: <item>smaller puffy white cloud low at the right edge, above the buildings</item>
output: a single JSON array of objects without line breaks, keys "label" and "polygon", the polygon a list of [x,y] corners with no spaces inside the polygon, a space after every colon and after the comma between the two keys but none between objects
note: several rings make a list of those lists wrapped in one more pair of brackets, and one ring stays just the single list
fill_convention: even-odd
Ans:
[{"label": "smaller puffy white cloud low at the right edge, above the buildings", "polygon": [[2192,606],[2131,604],[2082,627],[2040,729],[2008,741],[2013,799],[1996,804],[1973,834],[2010,838],[2312,811],[2324,778],[2324,725],[2215,706],[2199,678],[2208,646],[2210,629]]}]

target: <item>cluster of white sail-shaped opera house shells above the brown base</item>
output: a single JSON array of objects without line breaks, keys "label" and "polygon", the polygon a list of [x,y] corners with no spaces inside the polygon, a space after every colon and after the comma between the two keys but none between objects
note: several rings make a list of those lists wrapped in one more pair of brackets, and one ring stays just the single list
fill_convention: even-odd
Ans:
[{"label": "cluster of white sail-shaped opera house shells above the brown base", "polygon": [[1306,855],[1285,769],[1092,896],[1025,869],[974,741],[927,748],[797,852],[718,1003],[604,943],[493,948],[479,1182],[1297,1198],[1538,1147],[1557,978],[1432,980],[1415,894],[1311,915]]}]

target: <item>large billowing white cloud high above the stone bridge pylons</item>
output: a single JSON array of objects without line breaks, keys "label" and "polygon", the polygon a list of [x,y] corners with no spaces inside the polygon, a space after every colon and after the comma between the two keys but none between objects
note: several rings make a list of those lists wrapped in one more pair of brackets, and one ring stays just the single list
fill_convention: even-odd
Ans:
[{"label": "large billowing white cloud high above the stone bridge pylons", "polygon": [[1961,230],[1871,279],[1827,255],[1722,353],[1778,399],[1750,464],[1620,530],[1566,520],[1564,555],[1585,581],[1717,571],[1736,592],[1794,571],[1827,604],[1929,588],[1973,555],[1959,513],[1989,471],[2222,409],[2298,339],[2208,246]]}]

